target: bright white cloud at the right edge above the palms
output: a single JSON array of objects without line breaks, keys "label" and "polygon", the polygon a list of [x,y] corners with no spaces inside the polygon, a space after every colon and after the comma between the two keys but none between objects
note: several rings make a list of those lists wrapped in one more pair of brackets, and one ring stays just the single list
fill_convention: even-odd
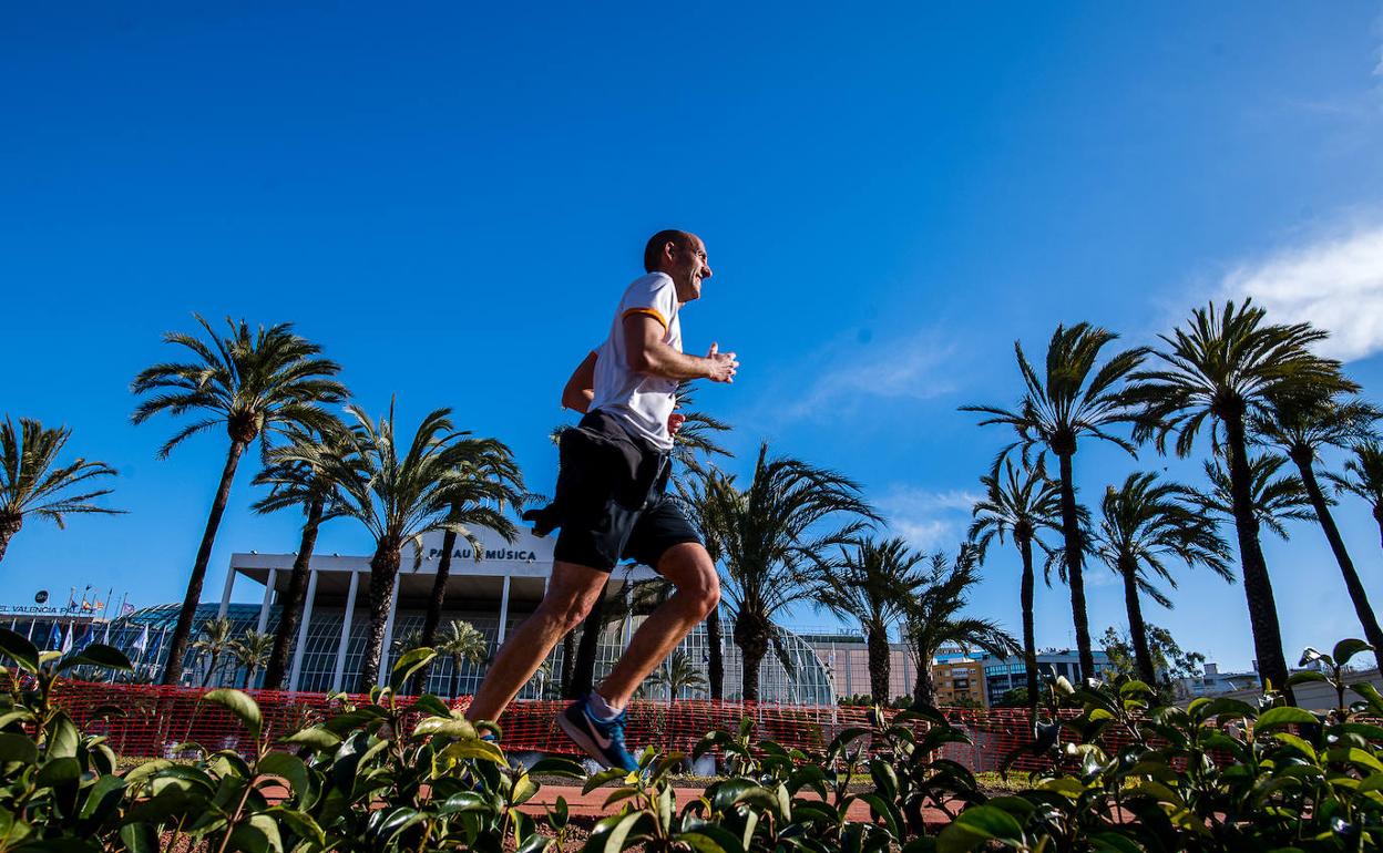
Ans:
[{"label": "bright white cloud at the right edge above the palms", "polygon": [[1253,300],[1277,322],[1330,332],[1322,355],[1353,361],[1383,350],[1383,224],[1357,227],[1241,264],[1225,294]]}]

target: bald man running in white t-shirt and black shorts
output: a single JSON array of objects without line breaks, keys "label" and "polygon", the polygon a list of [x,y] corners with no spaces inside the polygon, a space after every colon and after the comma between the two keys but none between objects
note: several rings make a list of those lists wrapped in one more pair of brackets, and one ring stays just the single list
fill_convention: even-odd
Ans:
[{"label": "bald man running in white t-shirt and black shorts", "polygon": [[552,579],[538,610],[495,655],[466,711],[498,720],[563,636],[604,592],[615,563],[651,565],[676,592],[639,626],[624,657],[592,693],[573,702],[557,724],[607,767],[638,769],[624,744],[625,705],[639,684],[721,600],[721,581],[705,546],[664,495],[674,393],[689,379],[732,382],[740,362],[715,344],[705,358],[682,353],[682,306],[700,299],[711,278],[701,238],[660,231],[643,252],[646,275],[624,292],[610,336],[567,380],[561,405],[585,418],[561,437],[553,503],[526,513],[534,532],[560,527]]}]

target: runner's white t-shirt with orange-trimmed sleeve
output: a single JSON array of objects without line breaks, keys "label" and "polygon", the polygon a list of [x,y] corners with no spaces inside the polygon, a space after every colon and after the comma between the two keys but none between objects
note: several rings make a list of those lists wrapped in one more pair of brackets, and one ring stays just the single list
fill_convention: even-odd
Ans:
[{"label": "runner's white t-shirt with orange-trimmed sleeve", "polygon": [[678,382],[629,368],[624,343],[624,318],[643,314],[662,324],[662,343],[682,351],[682,324],[678,321],[678,290],[667,272],[649,272],[633,279],[614,312],[610,336],[596,350],[596,387],[592,409],[610,412],[631,433],[656,447],[672,449],[668,416],[672,415]]}]

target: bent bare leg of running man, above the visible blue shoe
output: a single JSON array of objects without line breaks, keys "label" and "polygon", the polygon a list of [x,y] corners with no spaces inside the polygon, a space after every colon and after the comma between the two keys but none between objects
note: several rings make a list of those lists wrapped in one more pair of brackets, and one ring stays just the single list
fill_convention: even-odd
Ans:
[{"label": "bent bare leg of running man, above the visible blue shoe", "polygon": [[[649,614],[633,632],[629,647],[596,693],[613,709],[622,709],[629,697],[692,633],[721,601],[721,578],[705,547],[697,542],[674,545],[658,560],[658,574],[676,586],[676,592]],[[559,635],[560,636],[560,635]],[[556,641],[556,640],[553,640]],[[477,697],[479,698],[479,697]]]}]

